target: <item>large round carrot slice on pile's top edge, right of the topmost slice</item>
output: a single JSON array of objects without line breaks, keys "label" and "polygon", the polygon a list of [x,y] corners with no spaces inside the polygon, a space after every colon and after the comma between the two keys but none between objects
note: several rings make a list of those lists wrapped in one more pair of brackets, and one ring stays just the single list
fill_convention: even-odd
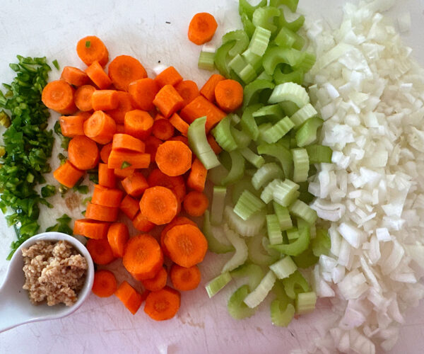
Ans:
[{"label": "large round carrot slice on pile's top edge, right of the topmost slice", "polygon": [[128,86],[132,81],[147,77],[146,69],[141,62],[129,55],[119,55],[109,64],[109,77],[112,84],[122,91],[128,91]]}]

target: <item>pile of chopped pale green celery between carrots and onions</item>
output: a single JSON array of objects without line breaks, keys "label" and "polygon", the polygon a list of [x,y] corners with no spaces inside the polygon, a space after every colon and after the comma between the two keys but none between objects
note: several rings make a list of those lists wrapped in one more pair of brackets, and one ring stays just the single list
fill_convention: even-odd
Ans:
[{"label": "pile of chopped pale green celery between carrots and onions", "polygon": [[331,149],[318,145],[323,120],[301,86],[315,57],[302,51],[298,34],[305,20],[288,22],[298,0],[240,0],[244,30],[223,36],[215,53],[202,52],[199,67],[216,69],[244,86],[244,102],[212,130],[223,152],[216,160],[206,144],[204,119],[189,129],[194,151],[213,183],[211,210],[204,217],[209,250],[233,252],[222,273],[208,282],[209,297],[232,278],[245,279],[228,300],[235,319],[252,316],[273,293],[271,320],[287,326],[295,314],[315,307],[305,271],[328,253],[330,239],[318,227],[309,203],[314,164],[331,163]]}]

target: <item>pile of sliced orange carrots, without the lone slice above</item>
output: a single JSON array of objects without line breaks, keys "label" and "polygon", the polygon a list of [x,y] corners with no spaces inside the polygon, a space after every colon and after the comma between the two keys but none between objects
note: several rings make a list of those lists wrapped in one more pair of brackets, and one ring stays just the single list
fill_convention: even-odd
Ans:
[{"label": "pile of sliced orange carrots, without the lone slice above", "polygon": [[[133,314],[146,299],[146,314],[170,319],[179,309],[178,290],[199,285],[197,264],[208,246],[196,223],[179,215],[199,217],[208,207],[206,169],[189,148],[187,130],[206,115],[208,133],[225,111],[239,105],[225,101],[225,93],[216,97],[218,84],[223,91],[237,86],[213,75],[199,91],[175,67],[151,79],[139,60],[128,55],[113,59],[106,72],[109,52],[95,36],[81,39],[77,53],[88,67],[65,67],[61,79],[43,92],[45,105],[63,115],[62,134],[71,137],[68,159],[54,177],[71,188],[85,171],[98,168],[85,219],[76,220],[73,233],[88,238],[95,263],[122,258],[145,289],[141,294],[129,282],[117,286],[113,273],[98,270],[93,292],[115,294]],[[211,135],[208,142],[220,152]],[[130,237],[119,217],[129,218],[143,233]],[[159,240],[147,234],[154,227],[163,227]],[[167,259],[172,261],[169,272]],[[176,290],[167,286],[168,279]]]}]

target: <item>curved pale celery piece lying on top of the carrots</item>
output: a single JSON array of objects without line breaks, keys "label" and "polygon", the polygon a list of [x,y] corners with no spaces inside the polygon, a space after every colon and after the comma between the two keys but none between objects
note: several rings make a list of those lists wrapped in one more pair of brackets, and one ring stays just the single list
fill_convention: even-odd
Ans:
[{"label": "curved pale celery piece lying on top of the carrots", "polygon": [[208,139],[206,139],[205,125],[206,116],[194,120],[194,122],[189,125],[187,137],[189,139],[189,147],[205,168],[213,169],[213,167],[219,166],[220,162],[215,152],[213,152],[211,145],[209,145]]}]

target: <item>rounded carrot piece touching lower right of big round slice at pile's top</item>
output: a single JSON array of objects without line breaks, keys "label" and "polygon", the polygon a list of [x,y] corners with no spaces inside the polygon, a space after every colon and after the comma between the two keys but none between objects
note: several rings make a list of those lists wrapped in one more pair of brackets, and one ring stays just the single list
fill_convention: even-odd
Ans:
[{"label": "rounded carrot piece touching lower right of big round slice at pile's top", "polygon": [[159,89],[158,83],[148,77],[133,81],[128,86],[128,92],[131,95],[134,107],[141,110],[153,110],[155,108],[153,100]]}]

